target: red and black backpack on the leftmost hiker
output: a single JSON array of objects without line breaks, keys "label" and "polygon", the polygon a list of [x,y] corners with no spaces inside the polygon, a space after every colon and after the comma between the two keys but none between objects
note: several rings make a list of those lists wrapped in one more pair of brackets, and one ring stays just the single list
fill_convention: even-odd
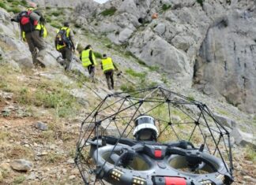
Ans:
[{"label": "red and black backpack on the leftmost hiker", "polygon": [[38,24],[37,20],[32,20],[30,14],[32,11],[23,11],[19,13],[19,22],[21,24],[21,30],[25,33],[32,32],[35,30],[36,25]]}]

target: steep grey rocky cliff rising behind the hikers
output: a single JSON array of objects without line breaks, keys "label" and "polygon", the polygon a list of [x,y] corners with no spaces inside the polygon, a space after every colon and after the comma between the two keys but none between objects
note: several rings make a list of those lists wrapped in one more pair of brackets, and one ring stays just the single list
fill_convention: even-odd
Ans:
[{"label": "steep grey rocky cliff rising behind the hikers", "polygon": [[[256,113],[256,2],[113,0],[77,6],[77,24],[169,78]],[[158,13],[156,19],[152,14]]]}]

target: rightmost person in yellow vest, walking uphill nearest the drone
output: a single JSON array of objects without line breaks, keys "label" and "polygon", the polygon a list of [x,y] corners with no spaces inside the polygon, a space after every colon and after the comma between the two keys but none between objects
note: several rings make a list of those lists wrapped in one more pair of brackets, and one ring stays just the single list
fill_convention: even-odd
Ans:
[{"label": "rightmost person in yellow vest, walking uphill nearest the drone", "polygon": [[101,68],[106,76],[108,89],[114,89],[114,71],[118,71],[119,69],[112,61],[112,58],[107,57],[107,54],[103,55],[103,59],[101,60]]}]

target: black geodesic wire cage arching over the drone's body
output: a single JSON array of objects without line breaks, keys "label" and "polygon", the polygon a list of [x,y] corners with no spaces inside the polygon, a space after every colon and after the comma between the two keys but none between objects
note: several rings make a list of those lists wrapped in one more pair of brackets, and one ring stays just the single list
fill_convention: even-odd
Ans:
[{"label": "black geodesic wire cage arching over the drone's body", "polygon": [[108,94],[82,122],[75,163],[85,184],[104,184],[104,176],[99,174],[107,163],[99,166],[98,156],[92,161],[89,141],[104,135],[115,135],[118,141],[134,139],[134,120],[141,115],[156,120],[157,142],[186,140],[198,148],[205,146],[204,152],[220,158],[232,176],[229,132],[216,120],[208,106],[163,87],[151,87]]}]

